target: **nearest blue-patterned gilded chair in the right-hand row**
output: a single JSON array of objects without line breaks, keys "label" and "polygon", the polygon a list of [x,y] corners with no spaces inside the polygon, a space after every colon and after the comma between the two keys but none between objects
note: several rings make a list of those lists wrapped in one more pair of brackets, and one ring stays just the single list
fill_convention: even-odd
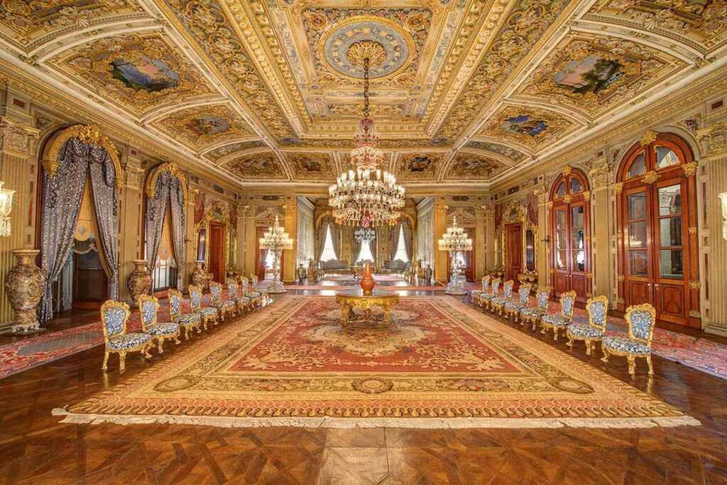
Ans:
[{"label": "nearest blue-patterned gilded chair in the right-hand row", "polygon": [[656,310],[648,303],[630,306],[626,309],[626,323],[629,326],[628,337],[603,337],[601,350],[603,350],[604,364],[608,364],[608,357],[626,356],[629,361],[629,374],[635,373],[636,358],[646,358],[648,373],[654,374],[651,365],[651,339],[654,337],[656,326]]}]

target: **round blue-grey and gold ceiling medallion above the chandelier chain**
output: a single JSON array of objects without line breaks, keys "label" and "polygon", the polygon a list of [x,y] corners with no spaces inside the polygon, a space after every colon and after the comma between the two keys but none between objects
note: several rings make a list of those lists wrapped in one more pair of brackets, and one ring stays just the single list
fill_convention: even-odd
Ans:
[{"label": "round blue-grey and gold ceiling medallion above the chandelier chain", "polygon": [[370,79],[386,79],[411,63],[414,50],[401,25],[370,15],[342,20],[321,39],[321,57],[329,68],[354,81],[364,77],[364,59],[369,59]]}]

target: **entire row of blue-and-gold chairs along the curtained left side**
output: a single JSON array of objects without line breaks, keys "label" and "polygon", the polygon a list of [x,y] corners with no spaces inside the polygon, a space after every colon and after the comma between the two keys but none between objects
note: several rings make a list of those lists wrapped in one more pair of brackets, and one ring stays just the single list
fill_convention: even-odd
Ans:
[{"label": "entire row of blue-and-gold chairs along the curtained left side", "polygon": [[[254,276],[254,275],[253,275]],[[238,281],[240,282],[238,292]],[[101,306],[101,322],[105,340],[105,353],[102,369],[108,369],[108,356],[111,353],[119,354],[119,372],[124,373],[126,368],[126,353],[140,352],[145,358],[151,358],[150,348],[155,344],[158,353],[164,353],[164,340],[174,340],[180,344],[180,335],[184,330],[185,340],[189,341],[190,334],[196,330],[201,334],[202,328],[206,331],[209,324],[217,325],[217,319],[225,321],[225,317],[241,315],[244,311],[260,308],[270,302],[265,289],[257,288],[257,276],[252,278],[252,291],[249,291],[247,278],[241,276],[238,280],[228,281],[228,299],[222,300],[222,285],[212,281],[209,283],[210,305],[202,306],[202,290],[198,286],[190,285],[189,313],[182,313],[184,297],[176,289],[169,289],[169,320],[157,322],[159,300],[148,294],[142,294],[137,303],[141,318],[140,332],[126,332],[126,323],[129,321],[131,311],[125,302],[108,300]]]}]

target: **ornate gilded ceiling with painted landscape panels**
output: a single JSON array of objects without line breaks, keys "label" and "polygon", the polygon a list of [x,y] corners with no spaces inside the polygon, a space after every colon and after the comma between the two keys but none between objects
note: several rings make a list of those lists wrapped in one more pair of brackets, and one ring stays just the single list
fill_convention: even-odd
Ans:
[{"label": "ornate gilded ceiling with painted landscape panels", "polygon": [[492,183],[727,58],[725,0],[0,0],[0,56],[238,183]]}]

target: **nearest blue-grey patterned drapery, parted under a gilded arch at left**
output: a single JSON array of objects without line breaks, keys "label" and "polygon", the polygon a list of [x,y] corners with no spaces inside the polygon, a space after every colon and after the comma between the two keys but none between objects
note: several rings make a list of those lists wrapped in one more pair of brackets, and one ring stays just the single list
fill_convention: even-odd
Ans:
[{"label": "nearest blue-grey patterned drapery, parted under a gilded arch at left", "polygon": [[[111,297],[118,296],[119,217],[116,211],[118,193],[116,170],[111,157],[103,148],[81,143],[71,138],[58,153],[55,177],[43,176],[43,202],[41,215],[41,267],[48,279],[40,303],[40,321],[46,323],[53,316],[52,288],[73,248],[73,231],[81,211],[84,184],[89,165],[94,167],[92,190],[99,228],[99,239],[109,275]],[[105,188],[111,187],[109,191]]]}]

